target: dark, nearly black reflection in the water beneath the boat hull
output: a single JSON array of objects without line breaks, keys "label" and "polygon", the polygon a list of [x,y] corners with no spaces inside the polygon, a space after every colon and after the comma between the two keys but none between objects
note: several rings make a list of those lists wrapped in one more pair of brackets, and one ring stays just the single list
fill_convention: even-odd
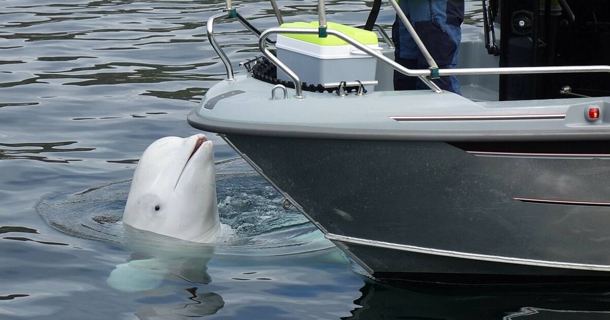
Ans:
[{"label": "dark, nearly black reflection in the water beneath the boat hull", "polygon": [[365,280],[356,319],[610,319],[610,283],[462,286]]}]

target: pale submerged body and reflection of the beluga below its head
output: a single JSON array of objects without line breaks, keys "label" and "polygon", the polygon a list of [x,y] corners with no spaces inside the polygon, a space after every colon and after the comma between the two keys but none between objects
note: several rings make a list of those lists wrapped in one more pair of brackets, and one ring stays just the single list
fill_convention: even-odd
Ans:
[{"label": "pale submerged body and reflection of the beluga below its head", "polygon": [[138,306],[139,319],[183,319],[213,315],[224,307],[220,294],[201,291],[201,285],[212,282],[207,264],[212,259],[212,245],[194,244],[160,236],[151,232],[125,228],[129,249],[133,252],[126,263],[117,265],[106,280],[115,290],[135,293],[159,288],[166,280],[191,286],[184,289],[190,302],[167,305]]}]

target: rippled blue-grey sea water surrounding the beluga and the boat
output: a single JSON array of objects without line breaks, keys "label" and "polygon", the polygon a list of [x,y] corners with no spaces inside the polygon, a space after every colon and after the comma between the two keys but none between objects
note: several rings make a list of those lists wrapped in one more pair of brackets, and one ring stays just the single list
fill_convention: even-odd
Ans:
[{"label": "rippled blue-grey sea water surrounding the beluga and the boat", "polygon": [[[610,319],[603,284],[373,282],[298,214],[282,215],[273,190],[211,134],[219,174],[248,176],[219,183],[223,218],[245,240],[124,241],[116,218],[138,157],[157,138],[196,133],[185,116],[223,79],[204,30],[222,3],[0,1],[0,319]],[[236,3],[260,29],[276,23],[268,2]],[[279,4],[287,21],[315,19],[315,2]],[[363,1],[327,9],[342,23],[367,16]],[[392,20],[386,7],[379,22]],[[234,62],[256,52],[237,23],[217,31]],[[117,283],[115,268],[126,272]]]}]

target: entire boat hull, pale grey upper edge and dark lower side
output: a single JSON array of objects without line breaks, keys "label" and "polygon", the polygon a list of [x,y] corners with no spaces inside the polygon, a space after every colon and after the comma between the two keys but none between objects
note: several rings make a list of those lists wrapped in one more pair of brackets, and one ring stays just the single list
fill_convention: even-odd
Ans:
[{"label": "entire boat hull, pale grey upper edge and dark lower side", "polygon": [[219,133],[373,276],[610,275],[610,98],[272,88],[218,82],[188,123]]}]

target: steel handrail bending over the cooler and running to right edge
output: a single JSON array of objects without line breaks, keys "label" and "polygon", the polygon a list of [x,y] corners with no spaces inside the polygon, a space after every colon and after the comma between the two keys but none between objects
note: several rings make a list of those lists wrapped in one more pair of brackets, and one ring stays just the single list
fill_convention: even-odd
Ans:
[{"label": "steel handrail bending over the cooler and running to right edge", "polygon": [[[287,66],[284,65],[281,61],[278,60],[267,48],[265,48],[265,38],[267,38],[271,34],[317,34],[317,29],[312,28],[270,28],[265,30],[260,35],[259,39],[259,48],[262,54],[267,57],[267,59],[271,60],[278,68],[282,69],[286,74],[290,76],[290,78],[295,82],[295,90],[297,96],[302,96],[303,91],[301,90],[301,82],[290,70]],[[347,43],[355,46],[356,48],[366,52],[368,55],[375,57],[378,60],[386,63],[396,71],[405,74],[406,76],[412,77],[420,77],[420,79],[424,80],[427,85],[434,85],[434,82],[431,82],[427,76],[430,75],[429,70],[423,69],[407,69],[404,66],[401,66],[397,62],[394,62],[392,59],[389,59],[383,54],[368,48],[364,44],[354,40],[354,38],[349,37],[343,32],[328,29],[329,35],[334,35]],[[440,76],[463,76],[467,74],[538,74],[538,73],[589,73],[589,72],[610,72],[610,66],[608,65],[597,65],[597,66],[522,66],[522,67],[502,67],[502,68],[463,68],[463,69],[439,69]],[[427,80],[427,81],[426,81]],[[298,82],[298,85],[297,85]],[[434,85],[436,86],[436,85]],[[431,87],[432,88],[432,87]],[[437,87],[438,88],[438,87]],[[434,90],[434,88],[433,88]],[[442,92],[439,90],[434,90],[437,93]],[[439,92],[440,91],[440,92]]]}]

